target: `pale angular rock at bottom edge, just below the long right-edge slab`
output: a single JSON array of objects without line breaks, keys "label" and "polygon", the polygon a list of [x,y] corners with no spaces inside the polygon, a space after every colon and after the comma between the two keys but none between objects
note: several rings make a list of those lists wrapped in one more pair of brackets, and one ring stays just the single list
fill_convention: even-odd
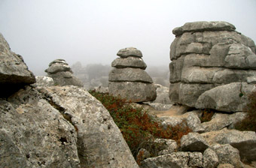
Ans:
[{"label": "pale angular rock at bottom edge, just below the long right-edge slab", "polygon": [[219,163],[230,163],[237,168],[243,167],[239,157],[239,151],[236,148],[233,148],[231,145],[215,144],[210,148],[218,155]]}]

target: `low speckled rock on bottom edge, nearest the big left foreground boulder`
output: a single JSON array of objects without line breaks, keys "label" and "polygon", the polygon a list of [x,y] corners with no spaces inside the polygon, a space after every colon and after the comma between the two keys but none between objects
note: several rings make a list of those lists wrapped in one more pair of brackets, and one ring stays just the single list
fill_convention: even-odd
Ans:
[{"label": "low speckled rock on bottom edge, nearest the big left foreground boulder", "polygon": [[189,154],[178,151],[172,154],[165,154],[158,157],[150,157],[142,161],[142,168],[188,168]]}]

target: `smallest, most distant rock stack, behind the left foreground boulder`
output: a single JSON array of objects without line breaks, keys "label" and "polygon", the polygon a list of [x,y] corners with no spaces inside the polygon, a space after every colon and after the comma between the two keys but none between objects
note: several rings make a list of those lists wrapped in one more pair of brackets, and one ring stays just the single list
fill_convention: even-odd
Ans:
[{"label": "smallest, most distant rock stack, behind the left foreground boulder", "polygon": [[73,76],[73,72],[64,59],[56,59],[50,62],[49,68],[45,70],[47,76],[53,78],[57,86],[84,86],[83,83]]}]

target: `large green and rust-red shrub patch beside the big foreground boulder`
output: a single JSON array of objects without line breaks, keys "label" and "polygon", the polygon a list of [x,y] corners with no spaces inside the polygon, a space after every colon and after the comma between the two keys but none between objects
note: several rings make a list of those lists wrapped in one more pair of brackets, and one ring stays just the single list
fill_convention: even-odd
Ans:
[{"label": "large green and rust-red shrub patch beside the big foreground boulder", "polygon": [[[181,136],[191,131],[188,127],[163,127],[151,115],[148,115],[148,111],[135,107],[131,103],[126,103],[125,100],[108,95],[108,93],[90,91],[90,94],[101,101],[108,110],[117,127],[123,133],[123,138],[135,158],[139,149],[149,139],[155,137],[175,139],[179,143]],[[154,155],[154,152],[151,152],[151,154]]]}]

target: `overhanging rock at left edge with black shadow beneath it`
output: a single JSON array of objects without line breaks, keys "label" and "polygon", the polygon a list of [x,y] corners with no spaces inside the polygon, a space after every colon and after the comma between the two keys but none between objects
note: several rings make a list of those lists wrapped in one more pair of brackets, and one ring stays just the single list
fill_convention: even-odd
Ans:
[{"label": "overhanging rock at left edge with black shadow beneath it", "polygon": [[11,95],[23,86],[35,83],[21,55],[11,51],[5,37],[0,33],[0,92],[1,97]]}]

